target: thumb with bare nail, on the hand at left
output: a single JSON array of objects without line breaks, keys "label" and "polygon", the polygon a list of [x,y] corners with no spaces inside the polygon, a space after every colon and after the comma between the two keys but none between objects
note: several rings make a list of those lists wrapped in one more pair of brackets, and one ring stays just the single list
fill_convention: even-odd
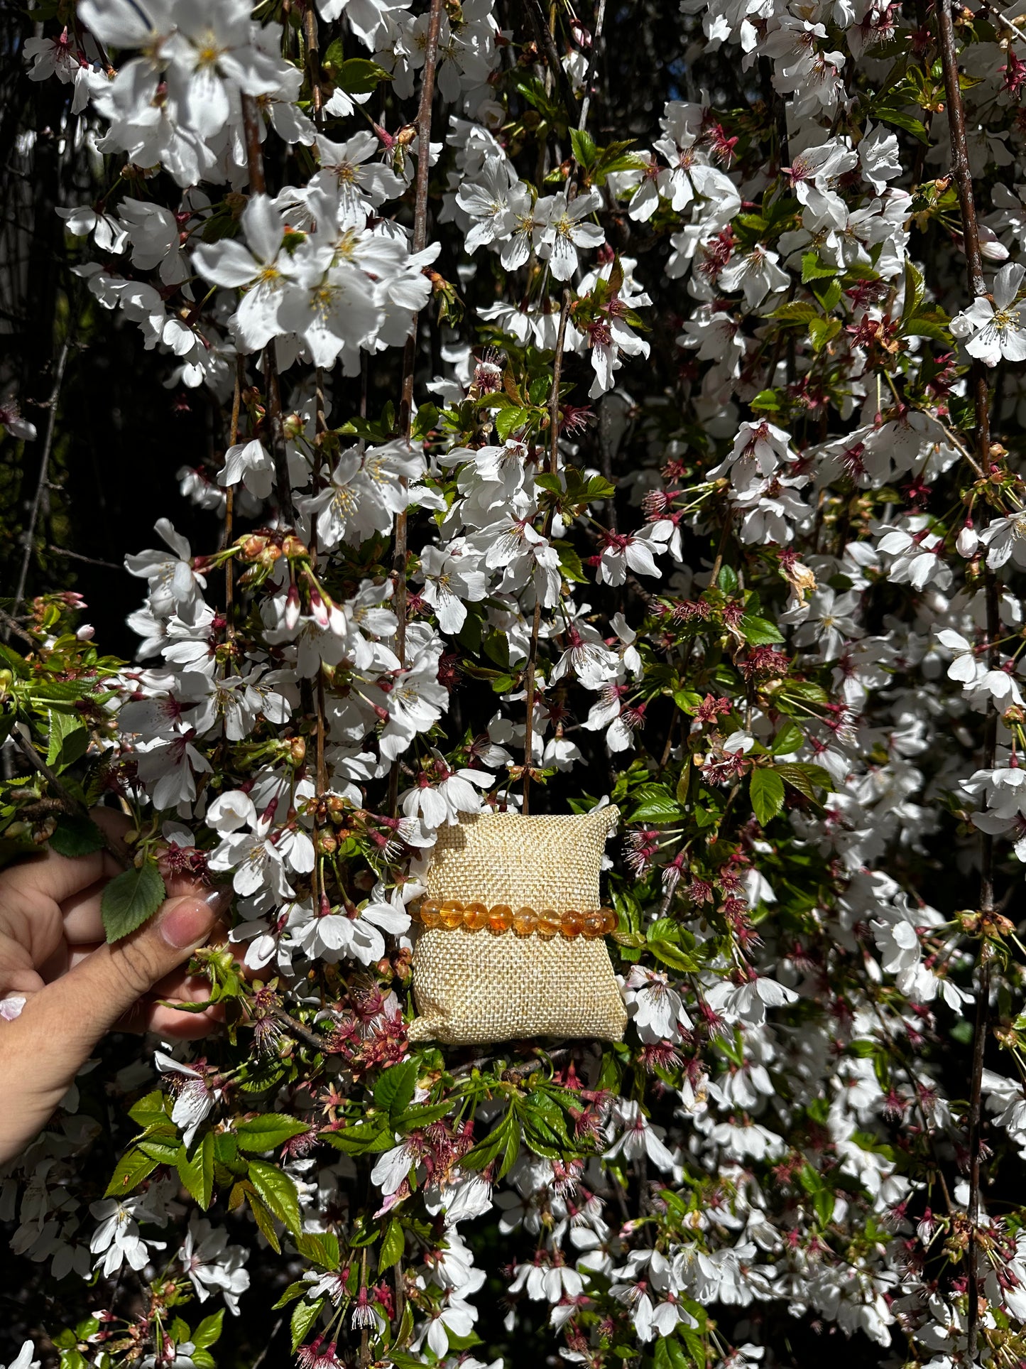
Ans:
[{"label": "thumb with bare nail, on the hand at left", "polygon": [[202,946],[228,897],[213,890],[205,898],[168,898],[138,931],[98,946],[37,995],[36,1001],[45,999],[53,1029],[67,1045],[70,1038],[81,1039],[85,1060],[104,1032]]}]

